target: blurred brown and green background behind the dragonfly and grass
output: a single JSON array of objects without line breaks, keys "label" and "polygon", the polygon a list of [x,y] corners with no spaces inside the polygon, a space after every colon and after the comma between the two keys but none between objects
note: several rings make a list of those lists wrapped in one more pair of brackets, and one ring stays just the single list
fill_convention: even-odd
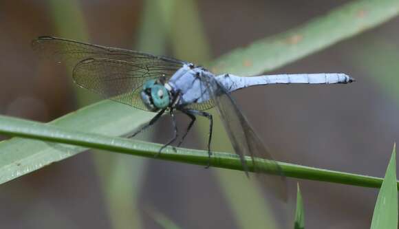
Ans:
[{"label": "blurred brown and green background behind the dragonfly and grass", "polygon": [[[0,112],[48,122],[96,100],[77,89],[63,67],[39,60],[30,48],[36,36],[206,64],[347,2],[1,1]],[[399,135],[398,25],[399,19],[391,20],[272,72],[345,72],[358,80],[352,85],[255,87],[235,94],[279,160],[384,174]],[[169,126],[165,119],[141,138],[164,142]],[[184,146],[204,148],[200,132]],[[295,182],[288,183],[294,197]],[[308,228],[369,227],[377,190],[301,181],[301,191]],[[89,151],[1,185],[0,226],[162,228],[166,217],[181,228],[291,228],[294,199],[284,205],[269,197],[242,172]]]}]

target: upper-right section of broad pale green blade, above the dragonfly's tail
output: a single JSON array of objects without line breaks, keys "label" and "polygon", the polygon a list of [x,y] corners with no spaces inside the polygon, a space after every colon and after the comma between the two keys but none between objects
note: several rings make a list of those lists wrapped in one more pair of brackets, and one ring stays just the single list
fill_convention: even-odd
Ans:
[{"label": "upper-right section of broad pale green blade, above the dragonfly's tail", "polygon": [[211,63],[213,72],[250,76],[277,69],[399,14],[399,1],[352,1],[304,25],[238,48]]}]

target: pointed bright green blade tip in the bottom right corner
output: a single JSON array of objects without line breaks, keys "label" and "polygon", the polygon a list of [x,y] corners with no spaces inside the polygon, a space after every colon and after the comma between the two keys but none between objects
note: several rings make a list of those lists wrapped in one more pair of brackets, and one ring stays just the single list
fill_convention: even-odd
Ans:
[{"label": "pointed bright green blade tip in the bottom right corner", "polygon": [[398,228],[398,188],[396,184],[396,147],[393,146],[391,160],[382,182],[374,208],[371,229]]}]

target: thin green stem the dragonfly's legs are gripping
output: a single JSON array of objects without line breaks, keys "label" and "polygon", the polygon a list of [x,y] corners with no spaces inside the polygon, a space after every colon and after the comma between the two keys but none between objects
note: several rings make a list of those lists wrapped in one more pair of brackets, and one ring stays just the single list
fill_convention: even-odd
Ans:
[{"label": "thin green stem the dragonfly's legs are gripping", "polygon": [[[111,138],[94,133],[70,131],[50,124],[11,118],[8,116],[0,116],[0,133],[47,142],[74,144],[92,149],[114,151],[141,157],[155,157],[160,160],[169,160],[173,162],[184,162],[202,166],[208,164],[208,153],[206,151],[182,148],[177,148],[176,151],[174,151],[171,147],[167,147],[162,153],[158,154],[158,150],[161,146],[160,144],[126,138]],[[49,146],[51,147],[52,144]],[[257,159],[257,161],[260,164],[266,165],[264,166],[265,168],[261,168],[261,172],[270,174],[279,173],[279,169],[267,166],[267,160]],[[231,153],[214,152],[210,162],[213,167],[229,168],[239,171],[243,170],[239,157]],[[246,162],[248,164],[248,169],[253,171],[250,157],[246,157]],[[333,182],[370,188],[379,188],[382,184],[382,178],[378,177],[330,171],[327,169],[312,168],[285,162],[278,162],[278,164],[281,166],[281,171],[286,177],[312,179],[322,182]],[[19,164],[18,166],[23,166],[23,164]]]}]

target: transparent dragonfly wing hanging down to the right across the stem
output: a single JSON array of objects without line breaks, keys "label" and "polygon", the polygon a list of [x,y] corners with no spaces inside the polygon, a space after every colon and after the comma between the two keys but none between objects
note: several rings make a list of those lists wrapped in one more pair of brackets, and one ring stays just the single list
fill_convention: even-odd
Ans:
[{"label": "transparent dragonfly wing hanging down to the right across the stem", "polygon": [[[217,83],[214,78],[206,78],[203,80],[209,88],[211,88],[211,96],[219,111],[221,119],[226,128],[226,132],[230,138],[235,153],[241,159],[246,174],[248,175],[248,166],[244,160],[246,155],[252,158],[253,171],[257,173],[257,178],[263,186],[268,190],[272,190],[281,199],[287,198],[287,190],[285,177],[280,166],[274,161],[263,141],[255,133],[250,126],[248,120],[241,113],[235,100],[231,97],[223,85]],[[255,157],[264,159],[263,163],[255,160]],[[260,173],[261,171],[279,171],[275,175]]]}]

